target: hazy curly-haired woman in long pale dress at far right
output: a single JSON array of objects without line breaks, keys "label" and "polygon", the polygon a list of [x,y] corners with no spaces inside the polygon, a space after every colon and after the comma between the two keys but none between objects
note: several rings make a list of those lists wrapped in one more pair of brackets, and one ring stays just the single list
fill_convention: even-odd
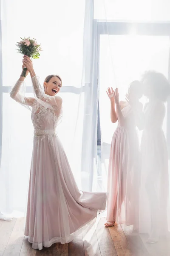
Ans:
[{"label": "hazy curly-haired woman in long pale dress at far right", "polygon": [[168,154],[162,129],[170,85],[161,73],[148,71],[142,78],[144,95],[144,130],[141,141],[142,175],[139,232],[148,233],[148,243],[167,235],[169,212]]}]

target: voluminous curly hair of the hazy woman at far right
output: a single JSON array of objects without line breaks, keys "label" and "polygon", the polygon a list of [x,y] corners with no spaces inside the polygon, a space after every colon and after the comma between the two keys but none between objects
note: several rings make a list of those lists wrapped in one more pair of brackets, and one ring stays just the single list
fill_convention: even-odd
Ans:
[{"label": "voluminous curly hair of the hazy woman at far right", "polygon": [[167,78],[162,73],[150,70],[143,74],[141,82],[143,83],[146,79],[150,83],[151,93],[157,99],[166,102],[170,95],[170,84]]}]

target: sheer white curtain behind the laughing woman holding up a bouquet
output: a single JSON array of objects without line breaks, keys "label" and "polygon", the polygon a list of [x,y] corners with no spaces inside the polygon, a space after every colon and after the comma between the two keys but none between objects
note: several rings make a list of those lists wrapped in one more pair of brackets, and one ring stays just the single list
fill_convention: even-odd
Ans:
[{"label": "sheer white curtain behind the laughing woman holding up a bouquet", "polygon": [[[92,0],[1,1],[0,211],[4,214],[19,216],[26,211],[33,141],[31,111],[9,96],[21,73],[22,56],[15,49],[20,37],[30,36],[42,44],[40,59],[33,61],[41,84],[49,74],[62,77],[63,118],[57,132],[79,189],[95,189],[98,95],[93,74],[93,6]],[[26,85],[31,96],[30,78]]]}]

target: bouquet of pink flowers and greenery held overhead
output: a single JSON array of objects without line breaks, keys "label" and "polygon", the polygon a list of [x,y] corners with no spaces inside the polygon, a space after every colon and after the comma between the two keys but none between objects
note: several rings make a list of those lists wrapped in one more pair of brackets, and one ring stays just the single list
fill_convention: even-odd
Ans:
[{"label": "bouquet of pink flowers and greenery held overhead", "polygon": [[[41,45],[37,44],[36,39],[21,38],[20,42],[17,42],[16,46],[18,47],[17,52],[27,55],[30,58],[39,58]],[[21,76],[26,76],[26,67],[23,68]]]}]

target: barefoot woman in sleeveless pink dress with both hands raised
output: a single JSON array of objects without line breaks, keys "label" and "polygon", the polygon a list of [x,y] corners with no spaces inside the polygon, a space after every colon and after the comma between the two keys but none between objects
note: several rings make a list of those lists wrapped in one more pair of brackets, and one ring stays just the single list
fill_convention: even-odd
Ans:
[{"label": "barefoot woman in sleeveless pink dress with both hands raised", "polygon": [[[113,134],[108,169],[108,207],[105,227],[126,223],[138,224],[137,191],[139,189],[139,142],[136,125],[142,127],[142,86],[133,81],[126,102],[119,102],[116,88],[108,88],[111,121],[118,121]],[[116,105],[116,110],[115,110]],[[135,193],[134,193],[135,192]]]}]

